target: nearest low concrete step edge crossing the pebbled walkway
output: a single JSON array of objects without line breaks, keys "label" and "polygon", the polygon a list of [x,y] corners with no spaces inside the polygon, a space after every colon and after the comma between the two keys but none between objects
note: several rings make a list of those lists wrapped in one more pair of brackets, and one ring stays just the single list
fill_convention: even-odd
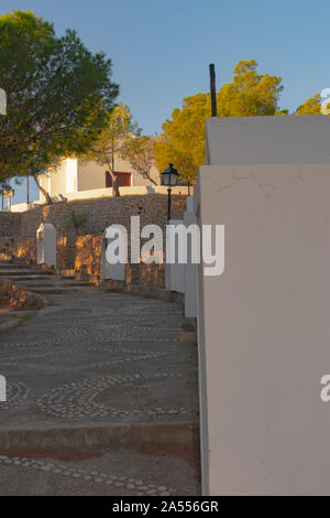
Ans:
[{"label": "nearest low concrete step edge crossing the pebbled walkway", "polygon": [[[1,409],[1,404],[0,404]],[[199,446],[198,423],[111,424],[50,429],[0,429],[1,451],[170,445]]]}]

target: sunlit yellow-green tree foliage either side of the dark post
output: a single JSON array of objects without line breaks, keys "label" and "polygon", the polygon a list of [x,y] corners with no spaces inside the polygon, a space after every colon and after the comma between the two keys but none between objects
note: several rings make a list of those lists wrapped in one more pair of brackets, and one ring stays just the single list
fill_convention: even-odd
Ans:
[{"label": "sunlit yellow-green tree foliage either side of the dark post", "polygon": [[[217,94],[218,117],[275,115],[283,89],[282,78],[257,73],[254,60],[240,61],[233,71],[232,83]],[[163,125],[156,140],[156,162],[160,171],[173,162],[184,181],[194,181],[199,165],[205,163],[205,121],[211,117],[209,94],[184,99],[172,119]]]}]

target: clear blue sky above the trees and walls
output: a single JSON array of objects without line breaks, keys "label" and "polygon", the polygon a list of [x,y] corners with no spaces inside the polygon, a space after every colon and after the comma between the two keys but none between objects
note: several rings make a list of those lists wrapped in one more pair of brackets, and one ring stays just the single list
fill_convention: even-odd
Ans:
[{"label": "clear blue sky above the trees and walls", "polygon": [[[290,110],[330,87],[330,1],[319,0],[1,0],[0,11],[30,10],[53,21],[57,34],[77,30],[82,42],[113,62],[120,100],[144,132],[158,132],[182,99],[218,87],[239,60],[280,75],[280,106]],[[25,201],[16,188],[14,203]],[[34,191],[35,192],[35,191]]]}]

